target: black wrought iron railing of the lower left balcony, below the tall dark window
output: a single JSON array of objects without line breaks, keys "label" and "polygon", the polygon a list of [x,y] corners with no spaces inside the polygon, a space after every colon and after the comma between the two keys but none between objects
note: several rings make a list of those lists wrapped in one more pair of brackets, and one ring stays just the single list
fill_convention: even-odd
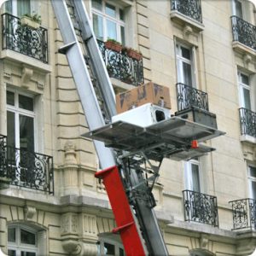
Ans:
[{"label": "black wrought iron railing of the lower left balcony, below the tall dark window", "polygon": [[10,184],[28,189],[54,193],[53,158],[7,146],[6,137],[0,135],[0,177]]}]

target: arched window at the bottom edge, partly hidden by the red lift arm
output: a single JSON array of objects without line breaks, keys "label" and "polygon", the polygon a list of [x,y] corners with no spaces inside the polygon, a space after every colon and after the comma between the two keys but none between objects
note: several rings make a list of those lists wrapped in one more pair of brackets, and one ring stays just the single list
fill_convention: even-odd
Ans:
[{"label": "arched window at the bottom edge, partly hidden by the red lift arm", "polygon": [[98,256],[102,255],[119,255],[125,256],[125,250],[121,242],[115,239],[116,235],[105,234],[106,237],[100,236],[98,241]]}]

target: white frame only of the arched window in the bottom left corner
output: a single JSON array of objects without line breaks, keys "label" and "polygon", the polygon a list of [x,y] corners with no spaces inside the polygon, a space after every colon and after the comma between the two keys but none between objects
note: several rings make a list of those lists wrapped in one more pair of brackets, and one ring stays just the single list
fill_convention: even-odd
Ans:
[{"label": "white frame only of the arched window in the bottom left corner", "polygon": [[[38,256],[38,230],[32,229],[31,227],[28,227],[24,224],[9,224],[8,228],[14,228],[15,229],[15,237],[16,241],[8,241],[8,250],[14,250],[16,252],[16,256],[21,255],[21,251],[26,251],[30,253],[36,253],[36,256]],[[25,244],[21,243],[21,237],[20,237],[20,230],[26,230],[32,234],[35,235],[35,245]]]}]

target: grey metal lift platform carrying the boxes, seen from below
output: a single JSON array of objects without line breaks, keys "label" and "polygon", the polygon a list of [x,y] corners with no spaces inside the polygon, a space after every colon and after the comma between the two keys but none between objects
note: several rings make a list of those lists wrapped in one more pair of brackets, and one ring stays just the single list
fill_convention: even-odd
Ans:
[{"label": "grey metal lift platform carrying the boxes, seen from below", "polygon": [[129,152],[125,156],[143,152],[148,160],[160,161],[163,156],[188,160],[207,154],[214,148],[201,143],[198,148],[191,148],[191,141],[204,142],[221,135],[224,135],[223,131],[173,116],[147,127],[117,121],[90,131],[84,137],[101,141],[106,147]]}]

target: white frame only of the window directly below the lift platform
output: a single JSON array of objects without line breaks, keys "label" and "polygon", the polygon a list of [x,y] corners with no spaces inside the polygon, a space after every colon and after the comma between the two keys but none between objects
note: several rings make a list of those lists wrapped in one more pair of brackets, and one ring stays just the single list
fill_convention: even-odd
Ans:
[{"label": "white frame only of the window directly below the lift platform", "polygon": [[[194,186],[193,186],[192,165],[198,166],[199,191],[195,191],[193,189]],[[185,161],[184,170],[185,170],[186,189],[201,193],[201,163],[200,163],[200,159],[197,159],[197,160],[192,159],[189,161]]]}]

